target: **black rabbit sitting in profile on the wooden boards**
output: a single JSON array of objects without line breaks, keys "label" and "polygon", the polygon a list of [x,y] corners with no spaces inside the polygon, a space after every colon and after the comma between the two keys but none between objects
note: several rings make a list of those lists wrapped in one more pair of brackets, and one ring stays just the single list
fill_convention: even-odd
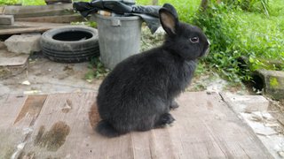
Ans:
[{"label": "black rabbit sitting in profile on the wooden boards", "polygon": [[174,121],[174,99],[190,83],[197,58],[209,50],[198,27],[179,22],[177,11],[164,4],[159,11],[167,33],[161,47],[128,57],[117,64],[99,87],[97,132],[107,137],[147,131]]}]

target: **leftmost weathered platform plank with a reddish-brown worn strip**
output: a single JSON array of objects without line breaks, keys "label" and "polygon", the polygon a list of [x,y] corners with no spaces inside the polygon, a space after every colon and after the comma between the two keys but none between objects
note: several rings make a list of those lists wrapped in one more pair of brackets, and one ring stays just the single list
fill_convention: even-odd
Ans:
[{"label": "leftmost weathered platform plank with a reddish-brown worn strip", "polygon": [[0,97],[0,158],[17,158],[20,155],[45,98],[45,95]]}]

